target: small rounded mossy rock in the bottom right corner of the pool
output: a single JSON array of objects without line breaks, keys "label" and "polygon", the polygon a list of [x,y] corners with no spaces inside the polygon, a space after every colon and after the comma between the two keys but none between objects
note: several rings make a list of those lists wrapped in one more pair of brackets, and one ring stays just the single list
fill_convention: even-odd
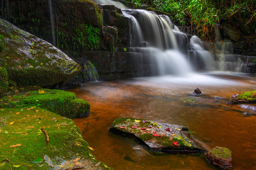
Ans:
[{"label": "small rounded mossy rock in the bottom right corner of the pool", "polygon": [[225,147],[214,147],[207,154],[208,161],[221,169],[232,169],[232,152]]}]

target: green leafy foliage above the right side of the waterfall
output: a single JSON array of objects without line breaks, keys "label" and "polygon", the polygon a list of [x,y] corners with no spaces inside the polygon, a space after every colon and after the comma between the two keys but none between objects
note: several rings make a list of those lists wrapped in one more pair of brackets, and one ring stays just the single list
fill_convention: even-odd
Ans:
[{"label": "green leafy foliage above the right side of the waterfall", "polygon": [[134,6],[148,3],[156,10],[168,12],[175,23],[191,25],[204,40],[212,40],[214,25],[222,22],[239,29],[243,36],[255,38],[255,0],[133,0],[130,3]]}]

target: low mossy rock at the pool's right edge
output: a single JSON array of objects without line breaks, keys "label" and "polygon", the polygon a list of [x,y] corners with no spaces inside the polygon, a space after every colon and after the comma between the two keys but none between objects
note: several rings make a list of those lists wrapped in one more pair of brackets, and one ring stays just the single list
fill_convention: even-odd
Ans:
[{"label": "low mossy rock at the pool's right edge", "polygon": [[233,99],[228,101],[228,104],[240,104],[240,103],[256,103],[256,91],[248,91],[243,94],[237,94],[232,96]]}]

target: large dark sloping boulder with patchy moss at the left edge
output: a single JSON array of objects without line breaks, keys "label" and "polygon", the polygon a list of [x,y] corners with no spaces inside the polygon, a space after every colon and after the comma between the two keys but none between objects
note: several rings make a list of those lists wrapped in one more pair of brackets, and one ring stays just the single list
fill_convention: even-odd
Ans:
[{"label": "large dark sloping boulder with patchy moss at the left edge", "polygon": [[61,50],[2,19],[0,34],[6,41],[0,66],[8,71],[10,84],[47,86],[65,82],[80,71],[80,65]]}]

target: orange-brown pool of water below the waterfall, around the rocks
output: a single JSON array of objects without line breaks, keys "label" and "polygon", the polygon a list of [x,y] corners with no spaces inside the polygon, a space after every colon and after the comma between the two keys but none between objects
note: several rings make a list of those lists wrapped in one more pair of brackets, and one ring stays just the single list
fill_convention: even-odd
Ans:
[{"label": "orange-brown pool of water below the waterfall, around the rocks", "polygon": [[[216,169],[203,154],[151,152],[133,139],[110,133],[118,117],[187,126],[209,147],[229,148],[234,169],[256,169],[256,116],[225,104],[233,94],[255,90],[255,84],[253,76],[214,73],[86,83],[69,91],[92,105],[89,117],[73,121],[96,150],[93,155],[113,169]],[[197,87],[204,96],[188,97]],[[193,103],[184,103],[186,99]]]}]

